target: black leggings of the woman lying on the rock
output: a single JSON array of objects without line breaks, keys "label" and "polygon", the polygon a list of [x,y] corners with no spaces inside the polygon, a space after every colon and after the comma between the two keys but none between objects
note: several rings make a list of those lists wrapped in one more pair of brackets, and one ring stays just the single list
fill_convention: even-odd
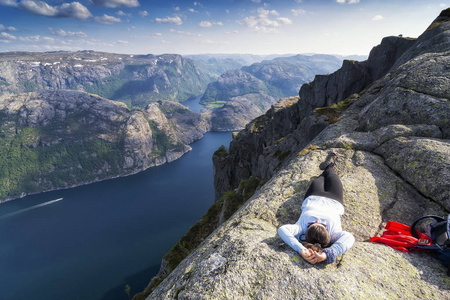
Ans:
[{"label": "black leggings of the woman lying on the rock", "polygon": [[309,186],[305,198],[311,195],[334,199],[344,204],[344,191],[339,176],[331,167],[327,167]]}]

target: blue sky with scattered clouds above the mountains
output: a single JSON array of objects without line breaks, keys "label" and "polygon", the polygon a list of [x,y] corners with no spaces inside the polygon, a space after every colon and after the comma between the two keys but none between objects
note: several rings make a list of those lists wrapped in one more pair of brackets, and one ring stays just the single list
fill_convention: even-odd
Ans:
[{"label": "blue sky with scattered clouds above the mountains", "polygon": [[0,0],[0,52],[368,55],[450,0]]}]

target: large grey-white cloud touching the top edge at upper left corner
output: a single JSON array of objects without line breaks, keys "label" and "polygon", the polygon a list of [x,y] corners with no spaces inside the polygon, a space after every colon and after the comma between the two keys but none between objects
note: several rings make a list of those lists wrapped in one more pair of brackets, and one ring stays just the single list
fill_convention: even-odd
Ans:
[{"label": "large grey-white cloud touching the top edge at upper left corner", "polygon": [[0,4],[14,6],[20,10],[46,17],[63,17],[87,19],[92,17],[89,10],[79,2],[63,3],[60,6],[51,6],[44,1],[22,0],[20,2],[0,0]]}]

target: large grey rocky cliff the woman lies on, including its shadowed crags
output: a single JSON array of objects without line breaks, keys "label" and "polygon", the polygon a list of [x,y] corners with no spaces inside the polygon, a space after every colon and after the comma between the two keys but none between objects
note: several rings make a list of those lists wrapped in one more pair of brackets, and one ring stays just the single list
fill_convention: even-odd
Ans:
[{"label": "large grey rocky cliff the woman lies on, including its shadowed crags", "polygon": [[[311,98],[283,99],[235,137],[229,154],[216,155],[219,190],[250,176],[268,182],[148,299],[450,298],[436,258],[368,242],[388,220],[450,212],[450,11],[417,40],[385,39],[371,56],[302,87]],[[336,263],[312,266],[276,230],[297,221],[328,151],[339,156],[342,225],[356,243]]]}]

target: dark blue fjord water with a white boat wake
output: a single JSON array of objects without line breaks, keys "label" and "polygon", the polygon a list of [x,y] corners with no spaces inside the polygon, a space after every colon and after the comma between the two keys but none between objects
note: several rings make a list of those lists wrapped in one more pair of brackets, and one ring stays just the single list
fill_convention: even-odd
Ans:
[{"label": "dark blue fjord water with a white boat wake", "polygon": [[126,284],[142,291],[213,204],[211,157],[230,141],[207,133],[172,163],[1,204],[0,299],[125,300]]}]

